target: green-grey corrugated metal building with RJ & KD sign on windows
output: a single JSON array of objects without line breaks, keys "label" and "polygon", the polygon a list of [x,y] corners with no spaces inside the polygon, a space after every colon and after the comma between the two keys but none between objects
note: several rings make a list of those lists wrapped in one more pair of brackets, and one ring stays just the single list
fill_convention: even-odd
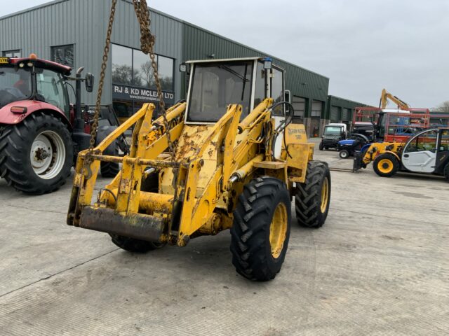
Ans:
[{"label": "green-grey corrugated metal building with RJ & KD sign on windows", "polygon": [[[111,0],[55,0],[0,18],[2,56],[25,57],[35,52],[78,69],[84,66],[95,76],[100,73]],[[295,109],[295,123],[304,123],[309,135],[320,134],[323,125],[338,116],[349,121],[347,109],[361,105],[347,99],[328,97],[329,78],[285,62],[275,55],[250,48],[229,38],[150,9],[155,52],[163,78],[164,100],[168,105],[185,97],[185,76],[179,65],[192,59],[272,57],[286,71],[286,89]],[[74,19],[76,18],[76,20]],[[121,118],[127,118],[144,102],[157,102],[154,80],[149,76],[148,56],[140,51],[140,29],[133,3],[117,2],[112,46],[107,65],[102,104],[113,104]],[[98,81],[97,83],[98,84]],[[84,94],[86,104],[95,102]],[[354,105],[355,104],[355,105]],[[335,114],[335,109],[340,111]],[[331,118],[332,116],[332,118]]]}]

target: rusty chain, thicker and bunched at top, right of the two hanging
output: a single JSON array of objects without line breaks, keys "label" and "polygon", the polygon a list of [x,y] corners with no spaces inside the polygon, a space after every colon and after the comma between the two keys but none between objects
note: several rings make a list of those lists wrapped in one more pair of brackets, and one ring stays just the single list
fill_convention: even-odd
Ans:
[{"label": "rusty chain, thicker and bunched at top, right of the two hanging", "polygon": [[145,54],[149,54],[152,62],[152,69],[154,73],[154,81],[156,82],[157,97],[159,98],[159,107],[162,111],[163,126],[166,129],[166,137],[168,144],[168,151],[171,159],[175,161],[175,151],[173,149],[173,142],[170,137],[170,125],[168,125],[166,104],[163,101],[161,80],[159,79],[159,72],[157,70],[156,56],[154,55],[155,37],[149,30],[151,20],[149,18],[149,9],[146,0],[133,0],[135,15],[138,18],[140,27],[140,48]]}]

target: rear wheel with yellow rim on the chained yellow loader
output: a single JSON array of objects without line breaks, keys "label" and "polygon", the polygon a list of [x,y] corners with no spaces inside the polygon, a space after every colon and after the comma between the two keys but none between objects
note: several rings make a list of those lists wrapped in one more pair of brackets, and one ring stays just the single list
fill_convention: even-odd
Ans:
[{"label": "rear wheel with yellow rim on the chained yellow loader", "polygon": [[328,164],[310,161],[306,181],[297,183],[295,210],[297,223],[306,228],[321,228],[330,204],[330,171]]}]

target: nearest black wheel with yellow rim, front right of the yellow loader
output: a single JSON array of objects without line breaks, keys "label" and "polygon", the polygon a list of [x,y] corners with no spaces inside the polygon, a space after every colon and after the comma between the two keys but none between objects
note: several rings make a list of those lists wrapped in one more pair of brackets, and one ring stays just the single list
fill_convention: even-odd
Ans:
[{"label": "nearest black wheel with yellow rim, front right of the yellow loader", "polygon": [[264,176],[243,188],[231,228],[232,263],[239,274],[274,279],[286,257],[290,218],[290,197],[279,179]]}]

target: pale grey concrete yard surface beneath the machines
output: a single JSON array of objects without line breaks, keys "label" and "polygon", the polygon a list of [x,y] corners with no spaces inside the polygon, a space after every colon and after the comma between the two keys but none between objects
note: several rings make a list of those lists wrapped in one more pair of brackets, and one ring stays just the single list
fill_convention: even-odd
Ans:
[{"label": "pale grey concrete yard surface beneath the machines", "polygon": [[[336,151],[316,160],[351,167]],[[0,180],[0,334],[448,335],[449,183],[371,166],[331,175],[326,224],[293,216],[264,283],[236,274],[229,231],[128,253],[65,224],[71,181],[27,196]]]}]

